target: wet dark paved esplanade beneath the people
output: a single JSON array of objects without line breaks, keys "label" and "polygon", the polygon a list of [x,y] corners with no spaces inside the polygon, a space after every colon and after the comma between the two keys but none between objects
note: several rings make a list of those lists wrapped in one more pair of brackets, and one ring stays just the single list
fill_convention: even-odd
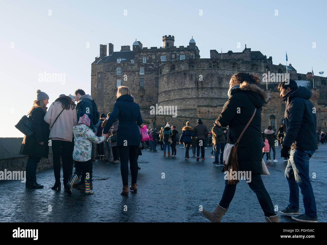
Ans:
[{"label": "wet dark paved esplanade beneath the people", "polygon": [[[159,150],[158,150],[159,149]],[[289,198],[284,176],[287,162],[280,158],[268,163],[270,175],[262,175],[265,187],[278,210],[286,208]],[[139,157],[138,192],[121,196],[120,164],[93,164],[94,195],[84,195],[73,188],[68,195],[51,190],[55,180],[53,169],[37,173],[43,189],[26,189],[20,180],[0,181],[0,222],[209,222],[199,206],[213,211],[224,190],[224,173],[212,164],[208,147],[205,161],[191,157],[184,160],[185,148],[177,147],[176,157],[163,157],[163,151],[142,151]],[[320,145],[310,159],[311,184],[316,197],[318,222],[327,222],[326,160],[327,145]],[[192,150],[190,149],[190,155]],[[164,173],[164,178],[163,178]],[[313,173],[316,178],[312,178]],[[129,175],[129,183],[131,177]],[[62,173],[61,173],[62,182]],[[127,211],[125,211],[125,210]],[[300,191],[300,214],[304,213]],[[280,222],[294,222],[279,214]],[[265,222],[257,197],[246,180],[240,180],[229,210],[222,222]]]}]

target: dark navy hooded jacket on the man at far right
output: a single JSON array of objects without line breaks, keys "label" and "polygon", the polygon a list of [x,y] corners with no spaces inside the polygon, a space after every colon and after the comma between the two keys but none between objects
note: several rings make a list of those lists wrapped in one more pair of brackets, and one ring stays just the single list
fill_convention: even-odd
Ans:
[{"label": "dark navy hooded jacket on the man at far right", "polygon": [[317,150],[317,116],[309,100],[312,92],[302,86],[291,90],[283,98],[286,101],[284,115],[284,140],[282,146],[296,150]]}]

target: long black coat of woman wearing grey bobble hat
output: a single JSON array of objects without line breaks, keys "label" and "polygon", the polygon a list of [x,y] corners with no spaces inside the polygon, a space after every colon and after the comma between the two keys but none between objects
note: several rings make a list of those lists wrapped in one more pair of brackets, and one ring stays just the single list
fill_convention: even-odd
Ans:
[{"label": "long black coat of woman wearing grey bobble hat", "polygon": [[[49,124],[44,121],[45,111],[34,108],[29,115],[32,119],[33,134],[31,137],[24,136],[19,154],[34,157],[49,158]],[[43,142],[43,145],[39,143]]]}]

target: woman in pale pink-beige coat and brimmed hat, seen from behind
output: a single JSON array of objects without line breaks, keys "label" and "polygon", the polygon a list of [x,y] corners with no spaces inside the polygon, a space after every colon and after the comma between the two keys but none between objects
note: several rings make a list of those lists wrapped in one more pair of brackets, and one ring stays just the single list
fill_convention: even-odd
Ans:
[{"label": "woman in pale pink-beige coat and brimmed hat, seen from behind", "polygon": [[44,116],[44,121],[50,125],[50,139],[53,153],[53,171],[55,184],[52,190],[60,190],[60,157],[62,159],[62,172],[64,188],[73,174],[71,161],[71,145],[73,127],[77,123],[77,113],[73,101],[69,96],[62,95],[49,107]]}]

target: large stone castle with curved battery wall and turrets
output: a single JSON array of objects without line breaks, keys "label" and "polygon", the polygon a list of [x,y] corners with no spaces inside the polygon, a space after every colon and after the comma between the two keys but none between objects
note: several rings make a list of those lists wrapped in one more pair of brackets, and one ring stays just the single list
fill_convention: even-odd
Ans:
[{"label": "large stone castle with curved battery wall and turrets", "polygon": [[[140,105],[144,123],[149,128],[160,129],[169,122],[178,130],[189,121],[196,125],[198,118],[211,129],[223,105],[228,100],[227,91],[233,74],[247,72],[262,79],[261,87],[271,98],[262,108],[262,130],[272,125],[278,129],[284,120],[285,103],[282,102],[277,86],[286,65],[274,65],[272,57],[267,58],[260,51],[251,51],[245,45],[242,52],[220,53],[210,50],[210,58],[201,59],[195,40],[189,45],[174,46],[174,36],[163,36],[163,47],[146,48],[135,39],[130,46],[121,46],[113,51],[113,44],[100,45],[100,56],[91,65],[91,95],[100,113],[112,111],[116,101],[117,87],[129,87],[135,102]],[[327,78],[312,73],[297,73],[289,64],[287,70],[298,85],[311,89],[311,101],[317,113],[317,129],[327,130]],[[265,82],[264,74],[276,74]],[[278,75],[279,74],[279,75]],[[279,76],[279,79],[278,79]],[[286,78],[286,77],[285,77]],[[176,108],[171,113],[153,113],[151,108]],[[156,109],[156,112],[158,110]],[[168,112],[168,111],[167,111]],[[158,115],[159,114],[159,115]]]}]

